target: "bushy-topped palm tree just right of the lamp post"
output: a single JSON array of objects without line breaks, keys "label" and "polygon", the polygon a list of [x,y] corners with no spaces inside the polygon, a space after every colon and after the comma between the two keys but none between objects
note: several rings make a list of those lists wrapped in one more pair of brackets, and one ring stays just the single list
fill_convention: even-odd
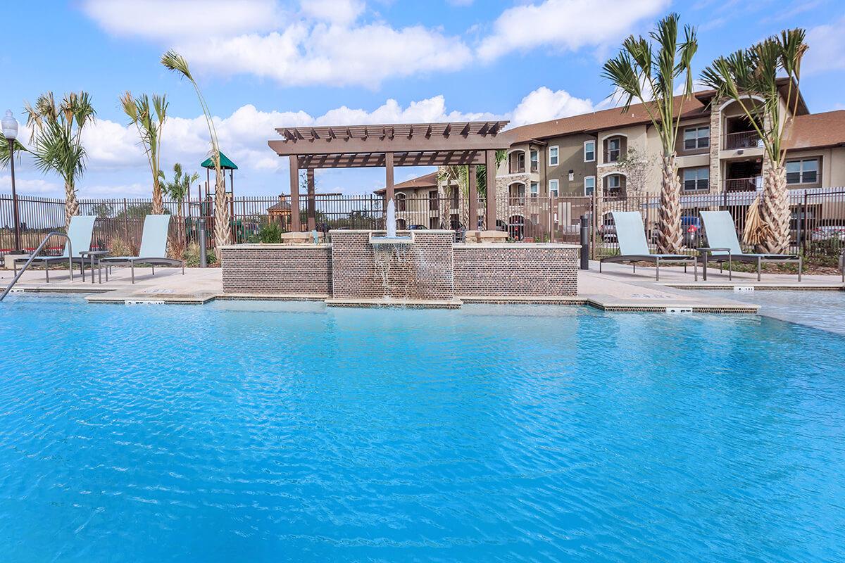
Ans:
[{"label": "bushy-topped palm tree just right of the lamp post", "polygon": [[38,96],[35,106],[25,104],[26,125],[32,131],[30,149],[35,167],[56,172],[64,181],[64,220],[79,214],[76,181],[85,173],[82,131],[95,121],[96,112],[87,92],[66,94],[56,105],[52,92]]}]

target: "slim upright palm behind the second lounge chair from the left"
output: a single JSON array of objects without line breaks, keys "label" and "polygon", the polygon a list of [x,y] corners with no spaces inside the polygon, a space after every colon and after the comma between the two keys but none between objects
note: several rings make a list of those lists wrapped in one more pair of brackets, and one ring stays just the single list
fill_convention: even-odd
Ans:
[{"label": "slim upright palm behind the second lounge chair from the left", "polygon": [[120,97],[120,103],[123,106],[123,112],[132,120],[130,125],[134,125],[138,130],[153,176],[152,212],[155,215],[161,215],[164,213],[164,204],[161,201],[159,163],[161,162],[161,128],[167,118],[167,96],[154,94],[152,111],[150,111],[150,98],[146,94],[134,98],[131,92],[124,92]]}]

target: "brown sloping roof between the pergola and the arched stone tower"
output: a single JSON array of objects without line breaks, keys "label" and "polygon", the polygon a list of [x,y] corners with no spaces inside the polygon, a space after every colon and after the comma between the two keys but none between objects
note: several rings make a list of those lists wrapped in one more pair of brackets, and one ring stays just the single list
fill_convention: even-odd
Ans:
[{"label": "brown sloping roof between the pergola and the arched stone tower", "polygon": [[[695,96],[683,100],[683,106],[681,106],[681,96],[675,96],[675,108],[679,107],[683,109],[684,117],[707,115],[706,105]],[[675,115],[678,115],[677,110]],[[573,133],[593,133],[602,129],[614,129],[648,122],[651,122],[651,118],[648,116],[645,106],[631,104],[628,111],[624,113],[621,107],[613,107],[609,110],[582,113],[579,116],[561,117],[550,122],[523,125],[510,129],[509,133],[515,135],[516,143],[526,143],[532,139],[542,140]]]}]

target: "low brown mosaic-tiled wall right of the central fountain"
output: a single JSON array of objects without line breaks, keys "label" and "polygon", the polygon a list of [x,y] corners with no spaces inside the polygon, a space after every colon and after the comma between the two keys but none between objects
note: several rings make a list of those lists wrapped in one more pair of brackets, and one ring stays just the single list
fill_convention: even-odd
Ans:
[{"label": "low brown mosaic-tiled wall right of the central fountain", "polygon": [[456,244],[455,295],[571,297],[578,293],[578,246]]}]

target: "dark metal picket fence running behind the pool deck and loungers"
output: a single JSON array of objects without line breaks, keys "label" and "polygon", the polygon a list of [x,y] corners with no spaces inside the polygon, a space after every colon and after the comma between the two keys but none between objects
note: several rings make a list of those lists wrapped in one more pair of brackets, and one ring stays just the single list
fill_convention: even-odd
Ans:
[{"label": "dark metal picket fence running behind the pool deck and loungers", "polygon": [[[460,237],[465,230],[485,225],[486,205],[477,203],[477,217],[470,217],[466,198],[461,197],[396,198],[396,223],[399,229],[449,229]],[[688,248],[703,244],[702,210],[728,210],[742,237],[745,217],[760,192],[721,192],[681,196],[682,229]],[[792,221],[791,252],[808,257],[838,256],[845,246],[845,188],[821,188],[790,192]],[[211,198],[165,201],[171,222],[171,239],[177,245],[199,240],[199,219],[206,221],[209,246],[214,245],[214,203]],[[229,200],[232,240],[237,243],[259,241],[266,229],[286,232],[291,229],[292,210],[287,197],[238,197]],[[500,198],[496,205],[496,228],[508,233],[511,241],[579,241],[581,215],[592,225],[594,256],[616,252],[612,211],[640,211],[646,239],[656,241],[659,198],[653,194],[628,194],[624,198],[591,197],[517,197]],[[93,245],[123,252],[137,252],[144,216],[150,213],[149,198],[83,199],[81,214],[96,215]],[[19,197],[22,243],[34,249],[50,230],[64,228],[64,200]],[[385,203],[379,195],[319,195],[309,206],[301,197],[298,209],[301,230],[384,229]],[[52,252],[61,252],[56,241]],[[0,255],[14,249],[12,198],[0,195]]]}]

